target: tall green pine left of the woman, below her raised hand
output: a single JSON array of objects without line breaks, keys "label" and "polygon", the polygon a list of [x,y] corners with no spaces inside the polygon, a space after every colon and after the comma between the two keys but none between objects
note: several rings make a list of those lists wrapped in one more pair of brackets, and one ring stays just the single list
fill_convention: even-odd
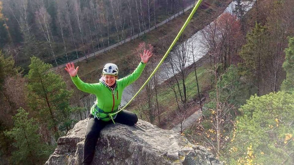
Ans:
[{"label": "tall green pine left of the woman, below her raised hand", "polygon": [[38,120],[46,122],[55,133],[59,125],[65,125],[61,127],[66,127],[66,131],[70,130],[69,100],[72,91],[66,89],[66,83],[61,75],[49,70],[52,68],[51,64],[45,64],[39,58],[32,57],[29,68],[26,75],[29,105],[32,110],[38,112]]}]

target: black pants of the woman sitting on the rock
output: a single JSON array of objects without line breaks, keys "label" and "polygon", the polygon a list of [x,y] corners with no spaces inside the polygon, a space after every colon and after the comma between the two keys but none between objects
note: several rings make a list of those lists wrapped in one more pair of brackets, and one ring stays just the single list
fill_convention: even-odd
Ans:
[{"label": "black pants of the woman sitting on the rock", "polygon": [[[138,122],[138,117],[136,114],[132,112],[122,110],[117,114],[114,121],[121,124],[132,126]],[[94,116],[90,114],[84,146],[84,165],[91,164],[95,152],[96,143],[100,135],[100,131],[109,123],[112,123],[112,120],[105,122],[97,118],[94,119]]]}]

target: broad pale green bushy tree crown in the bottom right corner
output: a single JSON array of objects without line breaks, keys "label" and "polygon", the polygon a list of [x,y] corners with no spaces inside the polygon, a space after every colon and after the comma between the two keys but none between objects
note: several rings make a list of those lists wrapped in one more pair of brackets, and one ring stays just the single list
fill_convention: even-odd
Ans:
[{"label": "broad pale green bushy tree crown in the bottom right corner", "polygon": [[[294,134],[294,93],[280,91],[258,97],[251,96],[246,105],[241,106],[243,116],[237,118],[236,137],[231,147],[237,153],[246,152],[245,146],[255,151],[254,163],[290,164],[293,162]],[[229,150],[229,148],[228,148]],[[229,164],[237,164],[242,155],[236,156]]]}]

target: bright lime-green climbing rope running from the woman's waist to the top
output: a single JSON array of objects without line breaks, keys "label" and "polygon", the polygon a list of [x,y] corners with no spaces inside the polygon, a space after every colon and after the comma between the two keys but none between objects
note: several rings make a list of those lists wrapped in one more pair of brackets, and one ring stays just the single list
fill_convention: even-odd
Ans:
[{"label": "bright lime-green climbing rope running from the woman's waist to the top", "polygon": [[151,79],[151,77],[155,74],[155,72],[158,70],[158,68],[160,67],[160,65],[163,63],[164,59],[168,56],[169,52],[171,51],[172,47],[174,47],[175,43],[178,41],[179,37],[181,36],[181,34],[183,33],[184,29],[186,28],[186,26],[189,24],[192,16],[194,15],[194,13],[196,12],[197,8],[199,7],[200,3],[202,2],[202,0],[198,0],[198,2],[196,3],[196,5],[194,6],[192,12],[190,13],[189,17],[187,18],[185,24],[183,25],[183,27],[181,28],[181,30],[179,31],[178,35],[175,37],[174,41],[171,43],[171,46],[168,48],[168,50],[166,51],[166,53],[164,54],[164,56],[162,57],[162,59],[160,60],[159,64],[156,66],[156,68],[154,69],[154,71],[151,73],[151,75],[149,76],[149,78],[146,80],[146,82],[142,85],[142,87],[138,90],[138,92],[134,95],[134,97],[122,108],[120,109],[118,112],[115,113],[111,113],[109,114],[112,122],[115,124],[114,122],[114,118],[112,116],[116,116],[117,113],[119,113],[120,111],[122,111],[124,108],[126,108],[130,102],[132,102],[134,100],[134,98],[140,93],[140,91],[144,88],[144,86],[147,84],[147,82]]}]

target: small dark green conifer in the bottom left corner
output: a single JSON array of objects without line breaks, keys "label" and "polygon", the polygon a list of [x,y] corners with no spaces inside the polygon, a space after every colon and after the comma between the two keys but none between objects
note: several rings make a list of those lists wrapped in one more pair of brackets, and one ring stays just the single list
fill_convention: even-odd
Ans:
[{"label": "small dark green conifer in the bottom left corner", "polygon": [[5,131],[5,135],[14,139],[13,146],[16,148],[12,152],[11,160],[13,164],[41,164],[48,158],[49,147],[40,141],[38,134],[39,126],[35,119],[28,119],[28,112],[23,108],[17,110],[17,114],[12,117],[14,127]]}]

